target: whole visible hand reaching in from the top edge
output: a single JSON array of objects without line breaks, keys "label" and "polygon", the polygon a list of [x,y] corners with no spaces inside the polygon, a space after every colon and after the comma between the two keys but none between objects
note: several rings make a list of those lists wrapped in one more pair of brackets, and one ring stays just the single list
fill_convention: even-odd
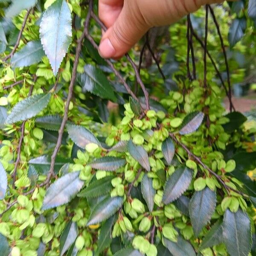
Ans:
[{"label": "whole visible hand reaching in from the top edge", "polygon": [[223,0],[99,0],[99,18],[108,28],[99,54],[120,58],[153,26],[175,23],[201,6]]}]

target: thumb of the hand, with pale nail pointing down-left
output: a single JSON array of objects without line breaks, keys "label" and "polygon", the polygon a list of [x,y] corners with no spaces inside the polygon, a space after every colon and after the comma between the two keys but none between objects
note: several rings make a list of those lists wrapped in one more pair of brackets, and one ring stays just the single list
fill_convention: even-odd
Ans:
[{"label": "thumb of the hand, with pale nail pointing down-left", "polygon": [[103,58],[119,58],[128,52],[147,32],[149,26],[143,20],[138,8],[125,1],[118,18],[103,35],[99,54]]}]

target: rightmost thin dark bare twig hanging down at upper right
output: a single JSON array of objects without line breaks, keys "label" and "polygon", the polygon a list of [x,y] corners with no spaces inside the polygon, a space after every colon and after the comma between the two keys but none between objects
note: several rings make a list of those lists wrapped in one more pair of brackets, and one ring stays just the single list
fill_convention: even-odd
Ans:
[{"label": "rightmost thin dark bare twig hanging down at upper right", "polygon": [[218,35],[219,35],[219,38],[220,38],[220,41],[221,41],[221,48],[222,48],[222,51],[223,51],[226,70],[227,70],[228,99],[229,99],[229,102],[230,102],[230,112],[232,112],[233,104],[232,104],[232,92],[231,92],[231,82],[230,82],[230,70],[229,70],[229,65],[228,65],[228,61],[227,61],[227,52],[226,52],[224,41],[223,41],[223,38],[222,38],[222,35],[221,35],[220,26],[218,24],[218,21],[216,19],[216,16],[215,16],[214,11],[213,11],[211,6],[209,6],[209,10],[211,12],[212,19],[215,23],[215,26],[216,26],[216,29],[217,29],[217,32],[218,32]]}]

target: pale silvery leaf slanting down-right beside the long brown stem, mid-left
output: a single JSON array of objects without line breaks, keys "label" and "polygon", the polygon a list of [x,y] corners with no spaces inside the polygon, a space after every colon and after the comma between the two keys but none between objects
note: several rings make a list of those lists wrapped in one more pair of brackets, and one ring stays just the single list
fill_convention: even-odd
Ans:
[{"label": "pale silvery leaf slanting down-right beside the long brown stem, mid-left", "polygon": [[100,146],[99,140],[94,134],[83,126],[67,124],[66,127],[71,140],[80,148],[85,148],[89,143],[95,143]]}]

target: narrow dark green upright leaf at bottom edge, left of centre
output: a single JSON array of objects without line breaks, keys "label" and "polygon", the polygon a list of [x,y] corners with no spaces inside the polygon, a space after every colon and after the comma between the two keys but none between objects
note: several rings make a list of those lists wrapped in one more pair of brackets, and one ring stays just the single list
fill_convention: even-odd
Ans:
[{"label": "narrow dark green upright leaf at bottom edge, left of centre", "polygon": [[104,249],[111,244],[111,229],[115,222],[115,216],[109,218],[101,227],[98,239],[98,246],[95,256],[98,256]]}]

